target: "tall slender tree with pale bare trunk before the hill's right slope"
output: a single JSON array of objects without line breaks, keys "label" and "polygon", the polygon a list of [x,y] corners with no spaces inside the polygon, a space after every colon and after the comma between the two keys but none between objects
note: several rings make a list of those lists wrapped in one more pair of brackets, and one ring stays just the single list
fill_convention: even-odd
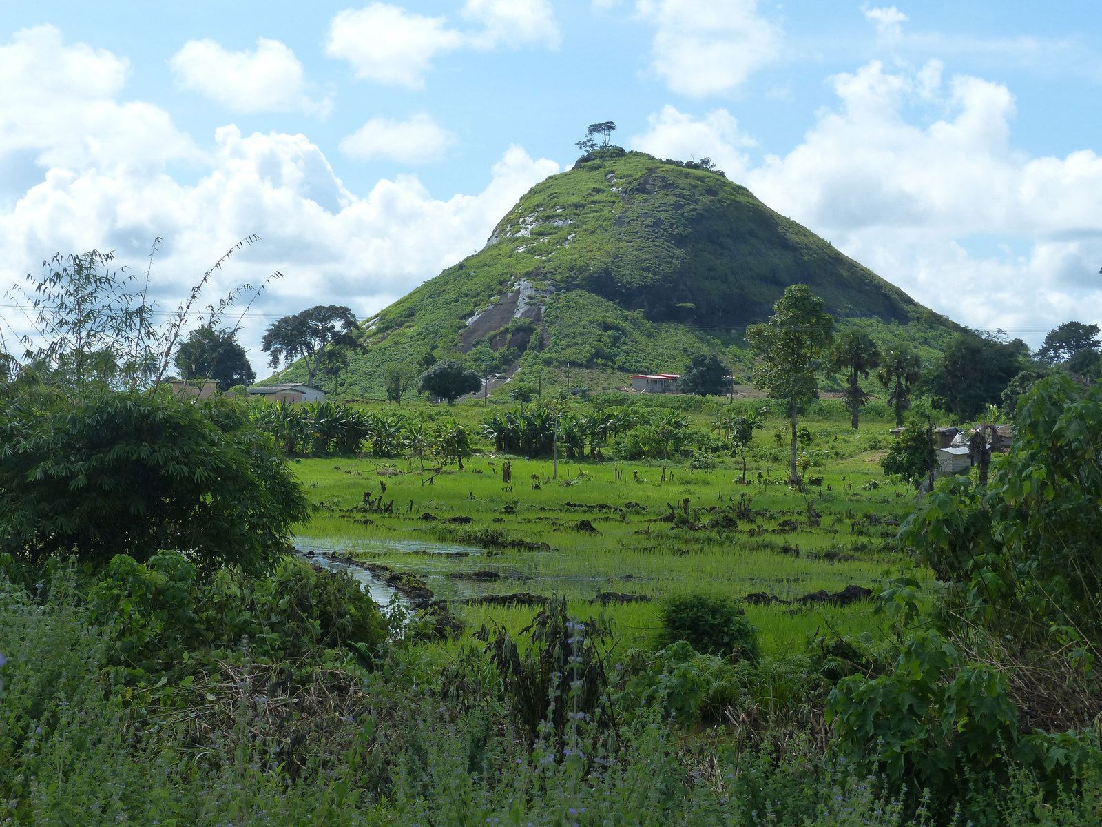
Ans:
[{"label": "tall slender tree with pale bare trunk before the hill's right slope", "polygon": [[763,324],[746,329],[746,341],[757,355],[754,385],[788,405],[791,423],[788,481],[800,481],[796,465],[796,425],[800,406],[815,398],[820,361],[834,341],[834,319],[823,300],[807,284],[791,284],[773,305]]}]

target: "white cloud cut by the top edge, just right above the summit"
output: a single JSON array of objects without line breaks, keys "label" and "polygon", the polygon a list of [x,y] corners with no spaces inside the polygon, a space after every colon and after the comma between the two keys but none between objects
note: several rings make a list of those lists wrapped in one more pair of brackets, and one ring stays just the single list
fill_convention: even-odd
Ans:
[{"label": "white cloud cut by the top edge, just right above the summit", "polygon": [[757,0],[638,0],[636,12],[655,26],[651,68],[682,95],[728,93],[779,53]]}]

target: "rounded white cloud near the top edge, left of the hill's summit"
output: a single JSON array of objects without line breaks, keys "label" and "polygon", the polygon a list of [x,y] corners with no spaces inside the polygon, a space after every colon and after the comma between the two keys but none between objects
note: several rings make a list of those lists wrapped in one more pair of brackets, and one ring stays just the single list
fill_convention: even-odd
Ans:
[{"label": "rounded white cloud near the top edge, left of the hill's summit", "polygon": [[433,57],[462,44],[463,35],[444,18],[370,3],[333,18],[325,51],[350,63],[360,80],[419,88]]}]

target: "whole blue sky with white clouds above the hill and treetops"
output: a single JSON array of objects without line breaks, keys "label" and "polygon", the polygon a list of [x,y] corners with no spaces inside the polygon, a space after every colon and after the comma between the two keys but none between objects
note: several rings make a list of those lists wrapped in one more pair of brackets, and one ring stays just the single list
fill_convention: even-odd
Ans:
[{"label": "whole blue sky with white clouds above the hill and treetops", "polygon": [[162,236],[171,305],[255,232],[215,290],[280,269],[258,313],[368,315],[613,119],[1036,343],[1102,322],[1100,92],[1087,1],[0,1],[0,281]]}]

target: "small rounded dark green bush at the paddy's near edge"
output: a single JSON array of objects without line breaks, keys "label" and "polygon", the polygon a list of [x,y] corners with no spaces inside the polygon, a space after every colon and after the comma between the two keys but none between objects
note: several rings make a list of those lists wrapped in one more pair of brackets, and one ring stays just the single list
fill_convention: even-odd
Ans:
[{"label": "small rounded dark green bush at the paddy's near edge", "polygon": [[685,641],[705,655],[757,663],[757,630],[734,598],[712,594],[667,598],[661,608],[661,624],[658,643],[663,648]]}]

